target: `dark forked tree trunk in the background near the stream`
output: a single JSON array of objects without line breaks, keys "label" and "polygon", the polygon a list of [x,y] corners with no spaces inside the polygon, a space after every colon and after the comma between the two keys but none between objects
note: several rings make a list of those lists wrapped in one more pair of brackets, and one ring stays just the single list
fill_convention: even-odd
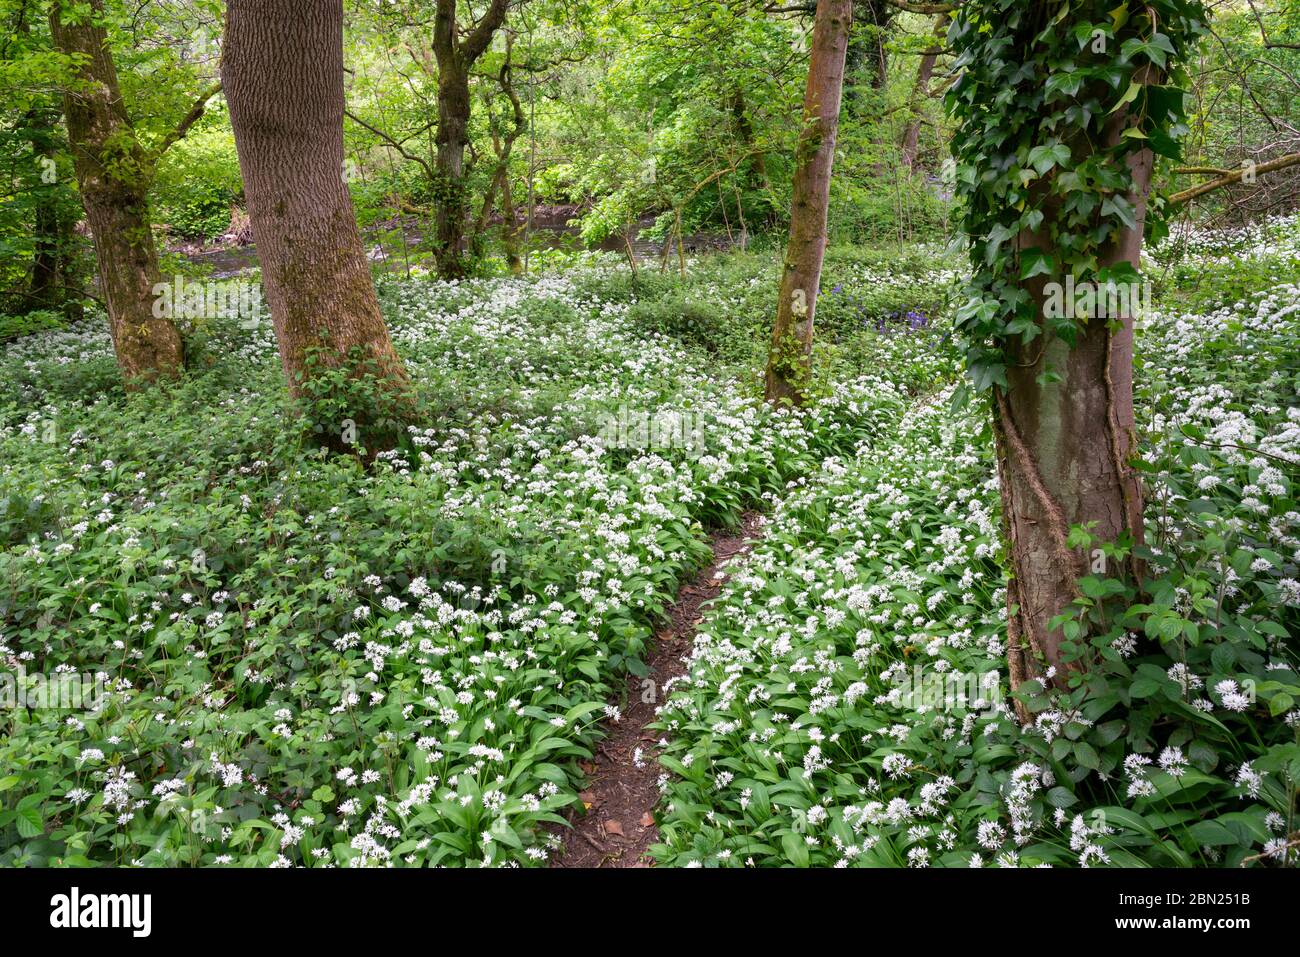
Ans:
[{"label": "dark forked tree trunk in the background near the stream", "polygon": [[469,190],[465,176],[465,148],[469,143],[469,73],[497,30],[506,22],[508,0],[491,0],[482,20],[462,40],[456,23],[456,0],[438,0],[433,27],[433,52],[438,61],[438,182],[434,257],[438,274],[460,280],[469,273],[465,259],[465,221]]}]

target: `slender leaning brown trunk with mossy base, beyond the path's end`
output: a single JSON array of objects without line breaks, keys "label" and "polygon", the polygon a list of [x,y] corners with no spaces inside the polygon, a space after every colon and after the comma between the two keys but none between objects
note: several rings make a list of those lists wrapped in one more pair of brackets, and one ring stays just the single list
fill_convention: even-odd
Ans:
[{"label": "slender leaning brown trunk with mossy base, beyond the path's end", "polygon": [[790,241],[785,250],[776,324],[767,359],[770,402],[801,404],[809,385],[812,321],[826,259],[831,169],[852,22],[852,0],[818,0],[812,57],[803,95],[803,129],[794,170]]}]

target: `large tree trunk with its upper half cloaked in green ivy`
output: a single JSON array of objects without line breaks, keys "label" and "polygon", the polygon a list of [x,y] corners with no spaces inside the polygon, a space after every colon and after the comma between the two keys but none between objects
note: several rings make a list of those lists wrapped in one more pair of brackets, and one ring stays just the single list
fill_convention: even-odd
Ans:
[{"label": "large tree trunk with its upper half cloaked in green ivy", "polygon": [[1138,270],[1202,17],[1190,0],[972,0],[958,13],[965,69],[949,103],[974,272],[958,330],[992,395],[1013,689],[1065,688],[1089,667],[1092,651],[1053,627],[1080,579],[1140,579]]}]

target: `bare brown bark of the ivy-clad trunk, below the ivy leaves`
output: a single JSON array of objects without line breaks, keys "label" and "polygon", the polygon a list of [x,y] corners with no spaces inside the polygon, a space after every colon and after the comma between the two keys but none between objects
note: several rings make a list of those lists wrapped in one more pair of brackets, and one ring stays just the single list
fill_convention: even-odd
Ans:
[{"label": "bare brown bark of the ivy-clad trunk, below the ivy leaves", "polygon": [[[1124,112],[1113,120],[1112,143],[1128,122]],[[1152,165],[1149,151],[1130,161],[1136,225],[1098,257],[1102,268],[1140,267]],[[1046,229],[1045,222],[1037,233],[1023,233],[1019,247],[1041,247]],[[1044,316],[1046,277],[1026,285]],[[1017,338],[1022,345],[1010,356],[1009,387],[994,389],[993,432],[1013,566],[1006,598],[1013,690],[1035,679],[1063,687],[1067,670],[1087,666],[1063,661],[1063,635],[1049,625],[1078,597],[1080,577],[1122,571],[1140,576],[1136,559],[1126,570],[1096,567],[1104,562],[1100,553],[1086,555],[1066,542],[1074,525],[1091,527],[1096,544],[1143,542],[1143,489],[1128,464],[1136,450],[1131,313],[1114,317],[1114,329],[1105,317],[1087,321],[1072,347],[1046,334],[1027,346]],[[1048,369],[1060,381],[1045,381]],[[1028,719],[1028,713],[1022,709],[1020,716]]]}]

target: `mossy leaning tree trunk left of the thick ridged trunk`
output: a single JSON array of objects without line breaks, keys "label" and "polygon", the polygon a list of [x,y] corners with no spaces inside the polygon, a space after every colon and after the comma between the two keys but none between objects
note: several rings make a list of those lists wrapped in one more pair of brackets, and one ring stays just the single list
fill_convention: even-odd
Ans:
[{"label": "mossy leaning tree trunk left of the thick ridged trunk", "polygon": [[[91,0],[91,8],[100,16],[101,0]],[[148,160],[122,103],[108,38],[88,18],[64,22],[58,3],[49,30],[61,53],[82,57],[64,112],[118,365],[129,389],[174,377],[183,368],[181,335],[169,317],[153,315],[161,274],[148,216]]]}]

